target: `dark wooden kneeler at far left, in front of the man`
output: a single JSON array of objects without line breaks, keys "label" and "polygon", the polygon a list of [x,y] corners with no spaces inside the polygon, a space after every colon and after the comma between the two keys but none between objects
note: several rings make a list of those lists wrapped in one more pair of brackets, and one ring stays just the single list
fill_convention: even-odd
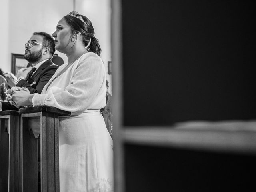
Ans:
[{"label": "dark wooden kneeler at far left, in front of the man", "polygon": [[0,112],[0,191],[21,192],[20,114]]}]

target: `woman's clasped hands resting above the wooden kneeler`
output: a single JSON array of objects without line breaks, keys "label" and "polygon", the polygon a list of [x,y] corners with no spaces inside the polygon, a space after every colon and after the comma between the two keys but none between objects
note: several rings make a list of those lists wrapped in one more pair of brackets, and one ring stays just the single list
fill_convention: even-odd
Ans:
[{"label": "woman's clasped hands resting above the wooden kneeler", "polygon": [[6,96],[6,100],[16,107],[32,104],[29,100],[32,95],[26,87],[12,87],[6,91]]}]

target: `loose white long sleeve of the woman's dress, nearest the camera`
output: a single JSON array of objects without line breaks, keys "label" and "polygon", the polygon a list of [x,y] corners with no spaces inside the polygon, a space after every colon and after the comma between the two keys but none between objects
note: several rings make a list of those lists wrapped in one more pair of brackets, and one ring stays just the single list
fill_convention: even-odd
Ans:
[{"label": "loose white long sleeve of the woman's dress, nearest the camera", "polygon": [[35,94],[33,105],[54,106],[77,112],[86,110],[97,100],[104,83],[104,65],[100,58],[88,57],[78,63],[70,84],[64,89],[52,86],[46,94]]}]

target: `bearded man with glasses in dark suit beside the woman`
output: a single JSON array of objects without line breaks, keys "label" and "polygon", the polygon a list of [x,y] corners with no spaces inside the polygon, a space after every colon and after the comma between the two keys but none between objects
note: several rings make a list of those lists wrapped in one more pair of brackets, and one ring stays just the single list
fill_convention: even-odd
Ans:
[{"label": "bearded man with glasses in dark suit beside the woman", "polygon": [[[16,86],[28,88],[31,94],[42,92],[45,84],[59,67],[51,61],[55,52],[54,47],[52,36],[45,32],[33,33],[30,40],[25,43],[24,54],[24,58],[33,68],[30,66],[18,70]],[[4,110],[18,110],[18,108],[8,102],[0,102],[0,111]]]}]

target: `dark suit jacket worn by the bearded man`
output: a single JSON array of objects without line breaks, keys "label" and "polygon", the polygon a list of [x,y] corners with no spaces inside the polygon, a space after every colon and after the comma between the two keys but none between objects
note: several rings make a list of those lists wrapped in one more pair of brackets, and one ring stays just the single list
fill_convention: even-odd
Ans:
[{"label": "dark suit jacket worn by the bearded man", "polygon": [[[31,94],[41,93],[45,84],[50,80],[58,67],[58,65],[53,64],[53,62],[48,59],[36,70],[28,82],[22,79],[16,86],[28,88]],[[11,105],[9,102],[2,102],[2,110],[18,110],[18,108]]]}]

